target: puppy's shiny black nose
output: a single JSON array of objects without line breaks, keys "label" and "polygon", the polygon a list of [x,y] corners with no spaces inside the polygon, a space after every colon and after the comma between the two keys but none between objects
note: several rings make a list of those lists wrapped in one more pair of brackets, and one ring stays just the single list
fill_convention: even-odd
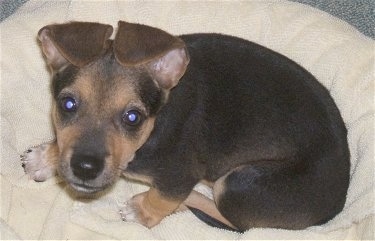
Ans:
[{"label": "puppy's shiny black nose", "polygon": [[104,159],[87,155],[73,155],[70,161],[73,174],[81,180],[92,180],[104,169]]}]

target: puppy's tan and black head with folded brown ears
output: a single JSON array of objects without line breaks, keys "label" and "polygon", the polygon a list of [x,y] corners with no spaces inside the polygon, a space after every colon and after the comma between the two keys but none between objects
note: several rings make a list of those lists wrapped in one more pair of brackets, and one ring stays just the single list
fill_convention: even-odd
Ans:
[{"label": "puppy's tan and black head with folded brown ears", "polygon": [[76,190],[112,184],[149,137],[189,62],[182,40],[152,27],[72,22],[39,31],[52,72],[58,173]]}]

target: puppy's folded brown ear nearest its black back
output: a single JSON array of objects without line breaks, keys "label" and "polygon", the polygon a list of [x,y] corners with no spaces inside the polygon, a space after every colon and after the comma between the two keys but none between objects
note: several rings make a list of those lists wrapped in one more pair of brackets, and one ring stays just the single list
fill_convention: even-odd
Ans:
[{"label": "puppy's folded brown ear nearest its black back", "polygon": [[171,89],[186,71],[189,56],[185,43],[160,29],[120,21],[114,53],[123,66],[145,65],[157,84]]}]

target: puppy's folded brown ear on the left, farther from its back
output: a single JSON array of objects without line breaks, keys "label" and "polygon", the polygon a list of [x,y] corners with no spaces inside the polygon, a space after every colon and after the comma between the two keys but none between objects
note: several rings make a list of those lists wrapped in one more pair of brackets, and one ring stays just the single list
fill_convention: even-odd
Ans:
[{"label": "puppy's folded brown ear on the left, farther from its back", "polygon": [[95,60],[108,48],[112,32],[110,25],[71,22],[43,27],[38,39],[47,63],[57,71],[67,63],[82,67]]}]

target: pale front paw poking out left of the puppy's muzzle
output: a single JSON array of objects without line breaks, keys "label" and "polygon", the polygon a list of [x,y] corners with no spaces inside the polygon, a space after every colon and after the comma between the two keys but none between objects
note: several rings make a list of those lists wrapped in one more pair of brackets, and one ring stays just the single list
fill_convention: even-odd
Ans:
[{"label": "pale front paw poking out left of the puppy's muzzle", "polygon": [[21,155],[22,167],[25,173],[37,182],[43,182],[55,175],[56,157],[54,143],[32,147]]}]

